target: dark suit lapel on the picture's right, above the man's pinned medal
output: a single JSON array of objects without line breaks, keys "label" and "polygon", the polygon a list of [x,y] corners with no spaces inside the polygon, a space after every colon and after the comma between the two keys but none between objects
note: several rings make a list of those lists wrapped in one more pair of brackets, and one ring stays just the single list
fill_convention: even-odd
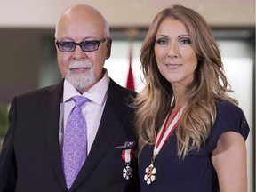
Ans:
[{"label": "dark suit lapel on the picture's right, above the man's pinned medal", "polygon": [[118,92],[117,89],[116,83],[111,81],[108,90],[108,99],[100,120],[99,130],[92,144],[90,154],[87,156],[84,166],[77,175],[70,191],[75,189],[83,180],[87,180],[93,169],[99,164],[100,158],[104,156],[108,150],[109,145],[115,138],[117,130],[122,124],[126,108],[122,108],[124,98],[120,97],[120,92]]}]

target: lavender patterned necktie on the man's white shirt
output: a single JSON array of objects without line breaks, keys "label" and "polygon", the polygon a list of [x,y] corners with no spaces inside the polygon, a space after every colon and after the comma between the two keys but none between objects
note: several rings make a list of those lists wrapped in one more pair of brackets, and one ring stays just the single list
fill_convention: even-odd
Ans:
[{"label": "lavender patterned necktie on the man's white shirt", "polygon": [[62,164],[68,190],[87,156],[87,128],[81,108],[89,100],[84,96],[71,99],[76,102],[76,106],[68,116],[62,149]]}]

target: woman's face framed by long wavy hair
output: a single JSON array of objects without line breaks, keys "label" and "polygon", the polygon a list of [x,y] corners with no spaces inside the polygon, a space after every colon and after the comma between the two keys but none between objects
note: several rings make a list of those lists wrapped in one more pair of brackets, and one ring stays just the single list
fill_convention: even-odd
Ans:
[{"label": "woman's face framed by long wavy hair", "polygon": [[156,32],[155,54],[157,67],[173,86],[187,86],[195,75],[196,52],[190,36],[180,20],[166,18]]}]

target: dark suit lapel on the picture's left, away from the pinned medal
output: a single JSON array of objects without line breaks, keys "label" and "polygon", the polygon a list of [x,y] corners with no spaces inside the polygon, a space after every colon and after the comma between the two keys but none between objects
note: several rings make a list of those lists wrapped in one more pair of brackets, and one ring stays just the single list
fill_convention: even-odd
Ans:
[{"label": "dark suit lapel on the picture's left, away from the pinned medal", "polygon": [[59,144],[59,118],[60,118],[60,102],[63,94],[63,81],[60,84],[52,86],[43,93],[42,111],[44,124],[44,138],[47,143],[49,156],[52,161],[52,169],[55,176],[66,190],[66,183],[61,165],[61,154]]}]

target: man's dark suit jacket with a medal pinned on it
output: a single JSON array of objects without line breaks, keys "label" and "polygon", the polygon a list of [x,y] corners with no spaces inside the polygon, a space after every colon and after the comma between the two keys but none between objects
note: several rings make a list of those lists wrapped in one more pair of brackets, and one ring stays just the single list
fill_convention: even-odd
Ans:
[{"label": "man's dark suit jacket with a medal pinned on it", "polygon": [[[12,100],[10,127],[0,156],[0,191],[68,191],[61,165],[59,144],[60,84],[30,92]],[[133,110],[128,107],[134,92],[110,81],[108,100],[90,154],[69,191],[136,192],[137,160],[131,180],[123,178],[125,141],[136,141]]]}]

